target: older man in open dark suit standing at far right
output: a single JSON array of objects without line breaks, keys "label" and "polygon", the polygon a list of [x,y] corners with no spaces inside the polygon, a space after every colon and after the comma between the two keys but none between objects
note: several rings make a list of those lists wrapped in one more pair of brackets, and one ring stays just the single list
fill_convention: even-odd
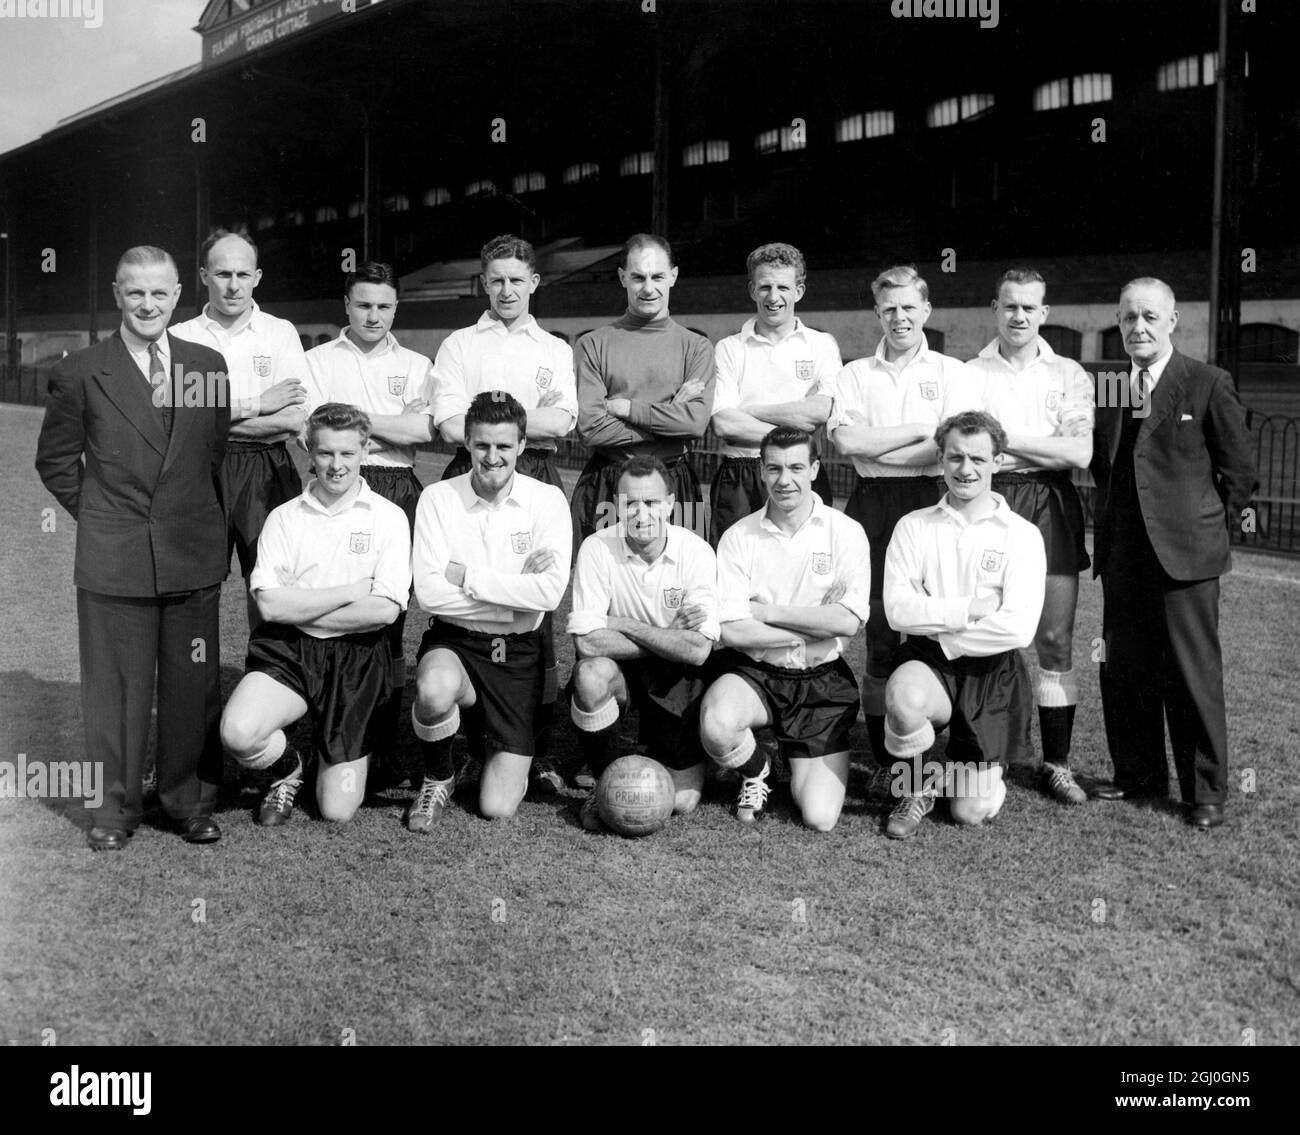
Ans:
[{"label": "older man in open dark suit standing at far right", "polygon": [[1188,819],[1208,829],[1223,823],[1227,798],[1218,577],[1231,566],[1228,529],[1254,491],[1254,460],[1232,377],[1173,347],[1169,285],[1126,283],[1118,322],[1132,368],[1101,389],[1092,458],[1115,779],[1093,794],[1166,794],[1167,718]]}]

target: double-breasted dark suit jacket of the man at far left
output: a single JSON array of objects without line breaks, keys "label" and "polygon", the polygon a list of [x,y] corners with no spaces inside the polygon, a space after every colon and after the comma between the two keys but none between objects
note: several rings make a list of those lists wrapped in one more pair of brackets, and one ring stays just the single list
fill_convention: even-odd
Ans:
[{"label": "double-breasted dark suit jacket of the man at far left", "polygon": [[51,376],[36,472],[77,520],[78,588],[162,595],[226,576],[216,480],[230,428],[226,363],[209,347],[168,341],[169,390],[177,367],[205,380],[174,399],[170,439],[121,333],[69,355]]}]

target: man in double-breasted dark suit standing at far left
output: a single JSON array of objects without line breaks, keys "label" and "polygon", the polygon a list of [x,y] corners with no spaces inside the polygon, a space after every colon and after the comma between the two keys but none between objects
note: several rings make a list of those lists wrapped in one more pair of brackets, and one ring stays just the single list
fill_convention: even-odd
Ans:
[{"label": "man in double-breasted dark suit standing at far left", "polygon": [[161,248],[122,254],[117,334],[58,364],[36,471],[77,520],[82,715],[104,767],[94,850],[140,822],[155,673],[157,789],[187,842],[221,839],[221,640],[226,534],[216,475],[230,410],[216,351],[166,334],[181,295]]}]

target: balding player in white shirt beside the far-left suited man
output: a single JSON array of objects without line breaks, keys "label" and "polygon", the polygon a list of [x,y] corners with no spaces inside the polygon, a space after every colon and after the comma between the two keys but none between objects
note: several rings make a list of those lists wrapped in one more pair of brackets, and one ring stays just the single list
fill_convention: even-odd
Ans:
[{"label": "balding player in white shirt beside the far-left suited man", "polygon": [[[230,368],[230,441],[221,465],[226,510],[226,562],[239,556],[247,584],[257,537],[272,510],[296,499],[302,477],[285,449],[307,421],[307,356],[289,320],[268,315],[252,298],[261,281],[257,246],[247,233],[216,229],[199,250],[208,302],[172,334],[212,347]],[[261,621],[248,597],[248,628]]]}]

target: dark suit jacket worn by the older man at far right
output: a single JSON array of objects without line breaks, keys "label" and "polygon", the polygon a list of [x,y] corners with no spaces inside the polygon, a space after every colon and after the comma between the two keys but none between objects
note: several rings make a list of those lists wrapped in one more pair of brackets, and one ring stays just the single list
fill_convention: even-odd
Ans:
[{"label": "dark suit jacket worn by the older man at far right", "polygon": [[[1098,403],[1115,400],[1098,398]],[[1097,407],[1095,576],[1106,571],[1110,554],[1115,521],[1110,475],[1127,412],[1126,406]],[[1240,523],[1258,484],[1245,410],[1227,371],[1173,352],[1138,433],[1134,473],[1161,567],[1175,580],[1226,572],[1231,567],[1228,529]]]}]

